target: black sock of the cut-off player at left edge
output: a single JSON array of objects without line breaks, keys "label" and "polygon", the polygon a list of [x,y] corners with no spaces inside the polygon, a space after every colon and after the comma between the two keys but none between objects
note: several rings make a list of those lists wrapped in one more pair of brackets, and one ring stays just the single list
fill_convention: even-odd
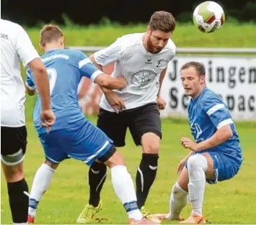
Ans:
[{"label": "black sock of the cut-off player at left edge", "polygon": [[12,211],[12,221],[14,223],[27,223],[27,211],[29,197],[25,195],[24,191],[28,193],[27,182],[23,178],[14,183],[7,183],[9,205]]}]

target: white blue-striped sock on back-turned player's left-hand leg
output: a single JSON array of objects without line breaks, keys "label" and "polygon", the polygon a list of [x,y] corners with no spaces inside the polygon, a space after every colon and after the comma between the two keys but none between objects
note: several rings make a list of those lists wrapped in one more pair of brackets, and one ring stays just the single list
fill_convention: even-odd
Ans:
[{"label": "white blue-striped sock on back-turned player's left-hand leg", "polygon": [[35,217],[37,204],[48,189],[54,172],[55,170],[43,163],[37,170],[37,173],[35,173],[35,178],[30,191],[30,204],[28,208],[28,214],[30,216]]}]

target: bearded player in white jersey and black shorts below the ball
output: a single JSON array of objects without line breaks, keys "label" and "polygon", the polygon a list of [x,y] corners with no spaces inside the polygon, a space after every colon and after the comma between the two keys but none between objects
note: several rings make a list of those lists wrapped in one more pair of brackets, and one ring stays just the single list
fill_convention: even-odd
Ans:
[{"label": "bearded player in white jersey and black shorts below the ball", "polygon": [[[102,88],[97,127],[110,137],[116,147],[125,146],[129,128],[133,141],[142,147],[141,163],[136,175],[138,207],[144,212],[149,189],[156,178],[159,143],[162,138],[159,109],[165,101],[160,88],[167,65],[175,57],[175,43],[170,37],[175,30],[175,18],[169,12],[154,12],[144,33],[119,37],[112,45],[90,56],[98,68],[115,63],[112,76],[123,74],[128,85],[120,90]],[[100,192],[106,178],[106,166],[94,162],[89,169],[89,203],[77,219],[92,220],[102,208]]]}]

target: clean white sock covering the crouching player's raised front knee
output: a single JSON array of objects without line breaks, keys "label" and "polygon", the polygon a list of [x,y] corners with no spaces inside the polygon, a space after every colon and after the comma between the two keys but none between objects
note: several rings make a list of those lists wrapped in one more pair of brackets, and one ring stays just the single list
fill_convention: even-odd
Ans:
[{"label": "clean white sock covering the crouching player's raised front knee", "polygon": [[206,188],[206,157],[195,154],[187,160],[187,170],[190,182],[188,183],[188,194],[192,206],[192,214],[202,216],[203,196]]}]

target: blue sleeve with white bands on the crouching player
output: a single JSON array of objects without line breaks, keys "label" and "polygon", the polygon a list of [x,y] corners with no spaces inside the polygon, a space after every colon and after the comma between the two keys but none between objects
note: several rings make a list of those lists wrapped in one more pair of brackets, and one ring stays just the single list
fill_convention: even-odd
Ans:
[{"label": "blue sleeve with white bands on the crouching player", "polygon": [[206,114],[210,117],[217,129],[220,129],[227,124],[234,124],[229,109],[221,98],[217,98],[217,96],[209,96],[203,102],[203,110],[206,111]]}]

